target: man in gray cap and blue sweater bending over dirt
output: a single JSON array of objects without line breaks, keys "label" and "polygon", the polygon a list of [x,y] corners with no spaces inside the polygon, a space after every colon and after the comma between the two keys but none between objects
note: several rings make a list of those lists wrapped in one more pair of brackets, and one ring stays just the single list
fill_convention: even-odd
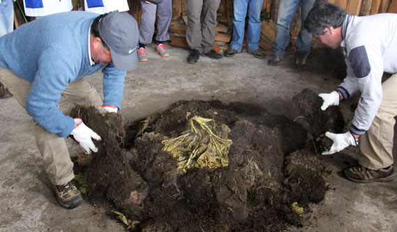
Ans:
[{"label": "man in gray cap and blue sweater bending over dirt", "polygon": [[[0,38],[0,81],[36,121],[34,134],[59,204],[82,204],[63,137],[89,154],[100,136],[57,108],[61,97],[116,113],[126,71],[138,65],[137,22],[127,13],[73,11],[41,17]],[[104,100],[84,77],[102,71]]]}]

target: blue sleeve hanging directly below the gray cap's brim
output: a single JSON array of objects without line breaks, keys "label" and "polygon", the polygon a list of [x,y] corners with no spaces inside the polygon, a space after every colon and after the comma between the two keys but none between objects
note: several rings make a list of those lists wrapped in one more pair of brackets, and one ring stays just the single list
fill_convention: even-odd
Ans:
[{"label": "blue sleeve hanging directly below the gray cap's brim", "polygon": [[116,106],[119,110],[123,99],[124,78],[127,72],[117,69],[110,63],[102,69],[104,106]]}]

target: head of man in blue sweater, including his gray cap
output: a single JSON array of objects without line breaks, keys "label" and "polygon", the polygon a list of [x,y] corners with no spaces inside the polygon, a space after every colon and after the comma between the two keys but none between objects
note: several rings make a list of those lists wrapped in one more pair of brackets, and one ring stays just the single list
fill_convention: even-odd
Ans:
[{"label": "head of man in blue sweater, including his gray cap", "polygon": [[138,66],[139,29],[131,15],[114,11],[98,16],[91,25],[91,36],[91,57],[95,62],[113,62],[125,71]]}]

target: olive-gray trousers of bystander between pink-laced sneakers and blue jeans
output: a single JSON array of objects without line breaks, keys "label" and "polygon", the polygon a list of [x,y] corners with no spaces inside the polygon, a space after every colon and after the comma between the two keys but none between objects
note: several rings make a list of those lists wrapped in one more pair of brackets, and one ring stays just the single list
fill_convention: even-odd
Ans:
[{"label": "olive-gray trousers of bystander between pink-laced sneakers and blue jeans", "polygon": [[[214,46],[217,10],[221,0],[186,0],[186,40],[190,49],[207,53]],[[203,23],[200,17],[203,15]]]}]

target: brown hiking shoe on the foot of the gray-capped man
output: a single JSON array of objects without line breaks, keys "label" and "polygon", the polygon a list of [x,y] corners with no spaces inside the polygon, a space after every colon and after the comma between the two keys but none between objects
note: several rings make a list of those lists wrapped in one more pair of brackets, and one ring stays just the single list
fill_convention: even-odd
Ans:
[{"label": "brown hiking shoe on the foot of the gray-capped man", "polygon": [[83,204],[83,198],[72,181],[64,185],[51,185],[55,191],[56,199],[63,208],[72,209]]}]

